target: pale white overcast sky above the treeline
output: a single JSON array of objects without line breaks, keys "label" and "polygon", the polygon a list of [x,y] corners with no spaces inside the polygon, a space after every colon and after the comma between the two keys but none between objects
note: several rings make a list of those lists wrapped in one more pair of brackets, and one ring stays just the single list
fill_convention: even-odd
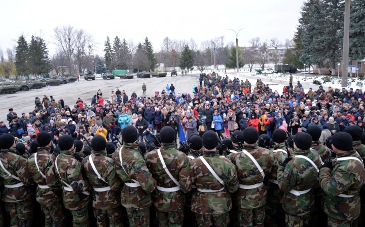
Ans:
[{"label": "pale white overcast sky above the treeline", "polygon": [[156,50],[163,39],[204,40],[225,36],[225,43],[248,46],[253,37],[276,37],[284,43],[296,31],[303,0],[184,0],[184,1],[2,1],[0,48],[13,48],[20,35],[42,35],[55,52],[53,29],[71,25],[86,30],[103,55],[106,36],[143,42],[147,36]]}]

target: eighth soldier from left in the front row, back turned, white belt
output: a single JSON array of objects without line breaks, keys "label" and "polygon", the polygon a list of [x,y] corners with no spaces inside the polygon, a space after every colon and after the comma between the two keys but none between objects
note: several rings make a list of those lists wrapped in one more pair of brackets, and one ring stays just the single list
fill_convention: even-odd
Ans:
[{"label": "eighth soldier from left in the front row, back turned, white belt", "polygon": [[235,226],[264,226],[266,186],[264,178],[274,162],[270,150],[258,147],[259,133],[254,127],[243,131],[244,150],[229,157],[236,166],[239,189],[234,194],[237,209]]}]

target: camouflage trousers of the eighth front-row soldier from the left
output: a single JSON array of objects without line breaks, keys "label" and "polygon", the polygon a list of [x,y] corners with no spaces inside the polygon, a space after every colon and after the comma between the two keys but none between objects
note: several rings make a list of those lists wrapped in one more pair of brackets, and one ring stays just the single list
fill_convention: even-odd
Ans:
[{"label": "camouflage trousers of the eighth front-row soldier from the left", "polygon": [[[265,206],[253,209],[237,209],[237,226],[244,227],[264,227]],[[236,222],[235,222],[236,223]]]}]

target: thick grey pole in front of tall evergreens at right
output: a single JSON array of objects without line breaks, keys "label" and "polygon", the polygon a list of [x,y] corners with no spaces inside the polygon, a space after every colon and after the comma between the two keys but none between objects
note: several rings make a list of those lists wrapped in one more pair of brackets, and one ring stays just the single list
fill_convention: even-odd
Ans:
[{"label": "thick grey pole in front of tall evergreens at right", "polygon": [[351,0],[345,0],[345,19],[344,19],[344,37],[342,52],[342,87],[347,87],[347,69],[349,55],[349,36],[350,36],[350,4]]}]

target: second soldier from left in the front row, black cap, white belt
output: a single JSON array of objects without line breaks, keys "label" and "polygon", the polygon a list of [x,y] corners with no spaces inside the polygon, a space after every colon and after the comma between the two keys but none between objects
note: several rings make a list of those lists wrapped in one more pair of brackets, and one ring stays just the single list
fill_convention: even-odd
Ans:
[{"label": "second soldier from left in the front row, black cap, white belt", "polygon": [[54,169],[56,157],[50,153],[52,137],[47,132],[40,132],[36,139],[39,144],[38,152],[33,153],[28,159],[28,171],[38,184],[36,201],[41,205],[45,215],[46,227],[65,226],[61,182]]}]

